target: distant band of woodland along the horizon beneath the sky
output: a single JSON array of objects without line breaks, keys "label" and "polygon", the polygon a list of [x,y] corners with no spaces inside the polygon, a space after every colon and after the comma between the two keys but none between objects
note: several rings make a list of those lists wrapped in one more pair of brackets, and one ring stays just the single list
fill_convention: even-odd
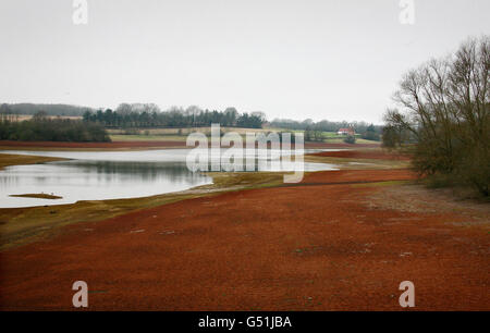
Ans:
[{"label": "distant band of woodland along the horizon beneath the sky", "polygon": [[187,108],[171,107],[161,110],[155,103],[121,103],[112,109],[93,109],[88,107],[66,104],[2,104],[0,115],[34,115],[42,112],[47,116],[81,116],[86,123],[97,123],[106,128],[182,128],[205,127],[220,124],[226,127],[241,128],[280,128],[281,131],[304,131],[306,140],[322,140],[323,132],[336,133],[339,128],[350,127],[365,139],[380,140],[382,126],[366,122],[331,122],[313,120],[295,121],[274,119],[267,121],[264,112],[240,113],[230,107],[223,111],[200,109],[197,106]]}]

